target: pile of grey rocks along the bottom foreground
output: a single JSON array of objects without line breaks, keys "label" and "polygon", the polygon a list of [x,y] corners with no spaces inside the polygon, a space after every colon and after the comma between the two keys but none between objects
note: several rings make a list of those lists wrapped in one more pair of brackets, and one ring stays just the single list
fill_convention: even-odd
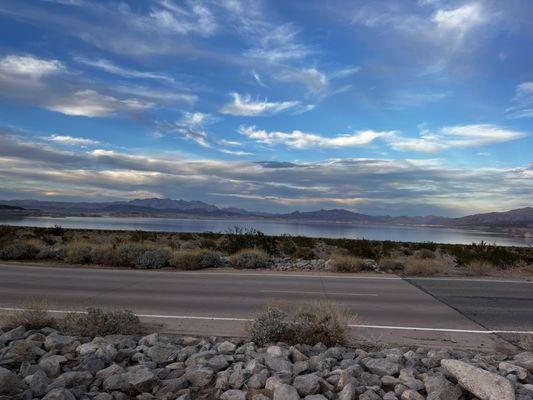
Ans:
[{"label": "pile of grey rocks along the bottom foreground", "polygon": [[[0,332],[1,333],[1,332]],[[533,353],[365,351],[157,333],[0,336],[0,400],[532,400]]]}]

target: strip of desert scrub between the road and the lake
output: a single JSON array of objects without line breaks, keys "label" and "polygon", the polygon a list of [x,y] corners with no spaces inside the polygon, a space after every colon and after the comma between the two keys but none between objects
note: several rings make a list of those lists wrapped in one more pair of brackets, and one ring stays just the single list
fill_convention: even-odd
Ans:
[{"label": "strip of desert scrub between the road and the lake", "polygon": [[292,263],[283,269],[312,265],[314,270],[405,275],[533,271],[533,249],[528,247],[267,236],[241,228],[167,233],[0,226],[0,259],[178,270],[280,269],[280,263]]}]

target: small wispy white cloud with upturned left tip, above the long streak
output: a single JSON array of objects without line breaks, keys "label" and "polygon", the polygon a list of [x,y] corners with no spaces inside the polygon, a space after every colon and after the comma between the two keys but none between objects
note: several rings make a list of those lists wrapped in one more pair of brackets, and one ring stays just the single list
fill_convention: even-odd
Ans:
[{"label": "small wispy white cloud with upturned left tip, above the long streak", "polygon": [[299,101],[272,102],[268,100],[252,100],[250,95],[241,96],[239,93],[230,93],[233,102],[220,108],[222,114],[229,114],[241,117],[256,117],[273,115],[279,112],[294,109],[295,111],[309,111],[309,105],[302,105]]}]

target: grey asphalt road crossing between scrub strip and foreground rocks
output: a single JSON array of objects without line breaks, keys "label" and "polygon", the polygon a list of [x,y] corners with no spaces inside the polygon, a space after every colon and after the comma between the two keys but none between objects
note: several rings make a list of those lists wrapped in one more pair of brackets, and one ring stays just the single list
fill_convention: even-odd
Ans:
[{"label": "grey asphalt road crossing between scrub strip and foreground rocks", "polygon": [[[460,284],[458,283],[460,282]],[[420,285],[423,290],[417,287]],[[461,286],[465,285],[465,286]],[[467,289],[464,289],[467,287]],[[495,290],[497,287],[498,290]],[[453,293],[480,293],[472,304],[457,302]],[[130,309],[170,332],[216,335],[242,334],[247,318],[270,301],[331,299],[357,313],[357,335],[399,343],[429,341],[435,345],[497,347],[487,328],[533,330],[533,284],[496,284],[485,281],[417,280],[415,285],[393,276],[362,276],[268,272],[175,272],[62,268],[0,264],[0,310],[19,307],[28,298],[46,298],[57,311],[90,306]],[[467,291],[468,290],[468,291]],[[428,293],[428,292],[431,292]],[[512,316],[502,303],[487,324],[473,321],[474,311],[490,314],[482,297],[526,299]],[[482,295],[481,295],[482,294]],[[455,302],[459,311],[436,299]],[[529,300],[527,300],[529,299]],[[495,300],[496,302],[498,300]],[[529,310],[527,304],[529,301]],[[461,307],[468,305],[468,316]],[[474,310],[474,311],[473,311]],[[477,315],[477,314],[476,314]]]}]

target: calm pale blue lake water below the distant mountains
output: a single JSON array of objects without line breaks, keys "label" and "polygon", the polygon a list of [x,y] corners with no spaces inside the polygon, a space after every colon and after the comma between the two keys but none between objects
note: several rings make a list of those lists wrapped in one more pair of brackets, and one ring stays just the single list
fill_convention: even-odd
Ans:
[{"label": "calm pale blue lake water below the distant mountains", "polygon": [[355,225],[335,223],[296,223],[264,220],[219,219],[164,219],[119,217],[24,217],[3,218],[0,225],[80,229],[144,230],[158,232],[225,232],[235,226],[255,228],[267,235],[288,234],[327,238],[392,240],[401,242],[436,242],[470,244],[484,240],[502,246],[533,245],[533,238],[512,237],[502,234],[466,229],[420,226]]}]

